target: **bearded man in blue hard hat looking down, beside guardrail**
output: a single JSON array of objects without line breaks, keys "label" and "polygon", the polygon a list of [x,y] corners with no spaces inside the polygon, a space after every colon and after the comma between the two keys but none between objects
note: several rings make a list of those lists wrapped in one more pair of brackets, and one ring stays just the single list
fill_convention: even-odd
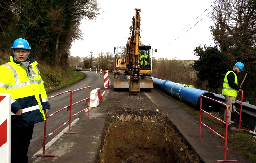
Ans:
[{"label": "bearded man in blue hard hat looking down, beside guardrail", "polygon": [[[242,62],[237,62],[234,67],[230,67],[225,75],[223,82],[222,94],[225,97],[226,103],[229,107],[228,111],[228,128],[233,130],[235,127],[232,126],[233,121],[231,121],[231,113],[236,111],[235,100],[238,91],[241,90],[237,82],[237,74],[244,71],[244,64]],[[226,121],[227,110],[225,109],[224,119]]]}]

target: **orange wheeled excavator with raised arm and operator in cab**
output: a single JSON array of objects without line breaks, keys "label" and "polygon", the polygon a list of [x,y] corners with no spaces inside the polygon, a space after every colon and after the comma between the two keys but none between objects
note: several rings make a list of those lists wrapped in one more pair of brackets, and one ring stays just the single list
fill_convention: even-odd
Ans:
[{"label": "orange wheeled excavator with raised arm and operator in cab", "polygon": [[[135,8],[135,16],[130,26],[130,37],[126,44],[125,58],[115,55],[114,89],[129,88],[130,93],[139,93],[140,89],[151,91],[154,88],[151,78],[153,50],[149,45],[140,44],[141,9]],[[115,53],[114,48],[114,53]],[[157,49],[155,49],[157,52]]]}]

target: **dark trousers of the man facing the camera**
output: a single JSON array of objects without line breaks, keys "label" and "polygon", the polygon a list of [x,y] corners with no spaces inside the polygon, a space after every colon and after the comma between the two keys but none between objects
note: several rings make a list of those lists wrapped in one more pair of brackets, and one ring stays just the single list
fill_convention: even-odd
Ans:
[{"label": "dark trousers of the man facing the camera", "polygon": [[28,146],[32,139],[33,125],[11,127],[11,163],[28,162]]}]

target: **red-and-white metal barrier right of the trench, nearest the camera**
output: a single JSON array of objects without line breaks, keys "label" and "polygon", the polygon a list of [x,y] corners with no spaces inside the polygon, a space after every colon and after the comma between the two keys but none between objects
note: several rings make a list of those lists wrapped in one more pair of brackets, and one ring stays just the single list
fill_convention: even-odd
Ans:
[{"label": "red-and-white metal barrier right of the trench, nearest the camera", "polygon": [[[215,101],[215,102],[218,102],[220,103],[221,105],[224,105],[226,106],[226,109],[227,109],[227,114],[226,114],[226,122],[224,122],[223,120],[211,115],[210,113],[204,111],[202,109],[202,98],[207,98],[209,100],[212,100],[212,101]],[[202,122],[202,116],[204,116],[204,113],[205,114],[208,114],[209,116],[219,120],[221,123],[225,124],[226,125],[226,130],[225,130],[225,137],[221,136],[219,133],[215,132],[212,128],[210,128],[209,126],[205,125],[203,122]],[[223,102],[220,102],[220,101],[217,101],[217,100],[214,100],[210,97],[207,97],[207,96],[201,96],[200,97],[200,123],[199,123],[199,138],[201,138],[201,124],[204,125],[206,128],[210,129],[213,133],[217,134],[220,138],[222,138],[224,141],[225,141],[225,147],[224,147],[224,159],[223,160],[216,160],[217,162],[237,162],[237,160],[227,160],[226,159],[226,155],[227,155],[227,150],[228,150],[228,147],[227,147],[227,141],[228,141],[228,105],[226,105],[225,103]]]}]

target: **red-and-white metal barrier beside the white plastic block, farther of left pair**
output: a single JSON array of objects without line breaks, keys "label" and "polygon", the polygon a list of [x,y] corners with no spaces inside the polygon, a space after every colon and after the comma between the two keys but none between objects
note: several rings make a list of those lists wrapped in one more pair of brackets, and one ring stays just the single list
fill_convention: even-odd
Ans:
[{"label": "red-and-white metal barrier beside the white plastic block, farther of left pair", "polygon": [[[72,101],[73,101],[73,93],[74,93],[75,91],[79,91],[79,90],[86,89],[86,88],[89,88],[89,97],[87,97],[87,98],[85,98],[85,99],[82,99],[82,100],[80,100],[80,101],[78,101],[78,102],[72,103]],[[68,120],[68,121],[69,121],[69,131],[68,131],[68,132],[65,132],[65,134],[79,134],[78,132],[70,132],[71,118],[72,118],[72,117],[74,117],[74,116],[76,116],[77,114],[79,114],[79,113],[81,113],[81,112],[83,112],[83,111],[85,111],[85,110],[88,109],[88,119],[89,119],[89,114],[90,114],[90,93],[91,93],[91,87],[90,87],[90,86],[83,87],[83,88],[79,88],[79,89],[76,89],[76,90],[71,91],[71,94],[70,94],[70,108],[69,108],[69,120]],[[77,103],[80,103],[80,102],[82,102],[82,101],[88,102],[88,107],[85,108],[85,109],[83,109],[83,110],[81,110],[81,111],[79,111],[79,112],[77,112],[76,114],[72,115],[72,106],[73,106],[73,105],[76,105]]]}]

